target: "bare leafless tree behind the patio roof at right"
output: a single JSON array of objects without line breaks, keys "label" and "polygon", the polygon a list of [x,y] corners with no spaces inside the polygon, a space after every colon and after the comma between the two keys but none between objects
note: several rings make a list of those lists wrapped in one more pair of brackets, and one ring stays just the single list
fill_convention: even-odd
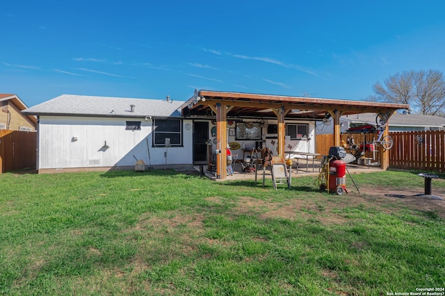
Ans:
[{"label": "bare leafless tree behind the patio roof at right", "polygon": [[404,71],[373,84],[372,101],[410,104],[421,114],[439,115],[445,107],[444,74],[437,70]]}]

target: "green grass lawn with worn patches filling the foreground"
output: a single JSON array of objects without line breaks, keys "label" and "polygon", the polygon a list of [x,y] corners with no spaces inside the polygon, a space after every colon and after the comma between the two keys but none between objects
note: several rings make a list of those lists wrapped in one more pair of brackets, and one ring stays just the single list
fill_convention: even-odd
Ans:
[{"label": "green grass lawn with worn patches filling the foreground", "polygon": [[[0,174],[0,294],[387,295],[445,287],[444,201],[410,172],[345,195],[170,170]],[[445,180],[433,191],[445,196]]]}]

